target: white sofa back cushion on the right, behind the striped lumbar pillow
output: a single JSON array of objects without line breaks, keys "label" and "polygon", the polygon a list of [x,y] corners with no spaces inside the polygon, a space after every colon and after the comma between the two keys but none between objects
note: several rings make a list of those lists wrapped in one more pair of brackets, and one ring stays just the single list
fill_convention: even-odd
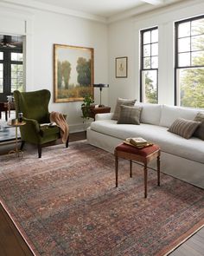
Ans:
[{"label": "white sofa back cushion on the right, behind the striped lumbar pillow", "polygon": [[177,118],[194,120],[194,116],[197,113],[197,109],[163,105],[159,125],[169,127]]}]

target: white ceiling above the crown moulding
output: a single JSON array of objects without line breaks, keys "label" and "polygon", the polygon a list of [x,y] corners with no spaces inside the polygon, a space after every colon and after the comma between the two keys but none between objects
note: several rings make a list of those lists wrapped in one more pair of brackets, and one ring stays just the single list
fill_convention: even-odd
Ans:
[{"label": "white ceiling above the crown moulding", "polygon": [[[189,1],[189,0],[185,0]],[[49,10],[73,16],[81,16],[101,22],[112,22],[145,11],[184,2],[183,0],[1,0],[18,7]]]}]

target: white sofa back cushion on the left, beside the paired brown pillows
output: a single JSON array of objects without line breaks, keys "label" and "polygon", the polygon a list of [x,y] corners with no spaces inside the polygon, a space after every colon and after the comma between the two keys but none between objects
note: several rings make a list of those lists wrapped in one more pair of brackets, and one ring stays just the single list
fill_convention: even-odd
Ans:
[{"label": "white sofa back cushion on the left, beside the paired brown pillows", "polygon": [[159,125],[162,105],[142,102],[135,105],[143,107],[140,118],[141,122]]}]

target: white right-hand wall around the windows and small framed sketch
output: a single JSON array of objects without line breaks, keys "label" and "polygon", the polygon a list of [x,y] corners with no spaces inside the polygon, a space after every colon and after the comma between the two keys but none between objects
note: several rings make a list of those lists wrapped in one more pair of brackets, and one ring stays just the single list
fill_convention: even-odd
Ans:
[{"label": "white right-hand wall around the windows and small framed sketch", "polygon": [[[139,101],[139,30],[154,26],[159,28],[158,101],[174,104],[174,22],[202,15],[203,10],[203,1],[182,1],[176,6],[109,25],[109,104],[112,108],[118,97]],[[127,78],[115,78],[114,61],[118,56],[128,56]]]}]

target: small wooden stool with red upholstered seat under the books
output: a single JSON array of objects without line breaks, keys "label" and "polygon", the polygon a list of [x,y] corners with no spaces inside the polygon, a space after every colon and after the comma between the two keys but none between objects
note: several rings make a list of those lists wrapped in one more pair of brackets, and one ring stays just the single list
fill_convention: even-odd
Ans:
[{"label": "small wooden stool with red upholstered seat under the books", "polygon": [[157,185],[160,186],[160,148],[158,145],[152,145],[145,148],[135,148],[121,143],[115,148],[115,170],[116,187],[118,187],[118,157],[130,160],[130,176],[132,176],[132,161],[143,163],[144,171],[144,197],[147,197],[147,164],[157,158]]}]

